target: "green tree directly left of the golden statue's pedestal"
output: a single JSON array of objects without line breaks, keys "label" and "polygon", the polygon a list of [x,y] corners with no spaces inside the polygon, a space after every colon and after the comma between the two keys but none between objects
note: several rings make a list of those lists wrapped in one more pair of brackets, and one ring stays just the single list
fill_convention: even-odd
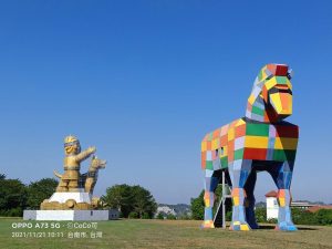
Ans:
[{"label": "green tree directly left of the golden statue's pedestal", "polygon": [[56,186],[58,181],[53,178],[43,178],[31,183],[28,186],[28,207],[30,209],[39,209],[40,204],[51,197]]}]

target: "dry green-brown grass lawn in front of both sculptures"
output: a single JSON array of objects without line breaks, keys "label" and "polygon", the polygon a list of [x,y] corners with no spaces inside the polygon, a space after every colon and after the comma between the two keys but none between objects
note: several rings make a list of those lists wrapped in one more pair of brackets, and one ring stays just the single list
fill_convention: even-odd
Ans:
[{"label": "dry green-brown grass lawn in front of both sculptures", "polygon": [[[12,228],[17,222],[30,222],[34,228]],[[46,222],[51,226],[53,221]],[[58,222],[61,228],[39,229],[35,228],[35,224],[0,218],[0,248],[332,248],[332,227],[319,226],[299,226],[299,231],[282,232],[273,230],[271,225],[264,225],[263,229],[253,231],[200,230],[200,221],[193,220],[98,221],[96,229],[69,229],[68,222]],[[87,224],[90,222],[85,225]],[[24,238],[23,232],[25,236],[42,236],[42,238]],[[27,235],[29,232],[31,235]],[[76,236],[79,232],[83,235],[86,232],[89,238],[69,238],[69,232],[76,232]],[[102,238],[91,238],[91,232]]]}]

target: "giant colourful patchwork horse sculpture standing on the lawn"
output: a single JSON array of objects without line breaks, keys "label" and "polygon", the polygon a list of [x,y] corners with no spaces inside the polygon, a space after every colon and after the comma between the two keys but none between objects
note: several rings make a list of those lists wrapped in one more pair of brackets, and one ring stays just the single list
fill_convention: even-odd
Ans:
[{"label": "giant colourful patchwork horse sculpture standing on the lawn", "polygon": [[232,220],[230,229],[258,228],[253,188],[257,172],[267,170],[278,187],[279,217],[276,229],[297,230],[291,219],[290,185],[299,127],[283,120],[292,114],[292,85],[288,65],[268,64],[261,69],[248,98],[246,117],[211,133],[201,142],[205,170],[205,221],[214,228],[212,207],[220,173],[229,174]]}]

